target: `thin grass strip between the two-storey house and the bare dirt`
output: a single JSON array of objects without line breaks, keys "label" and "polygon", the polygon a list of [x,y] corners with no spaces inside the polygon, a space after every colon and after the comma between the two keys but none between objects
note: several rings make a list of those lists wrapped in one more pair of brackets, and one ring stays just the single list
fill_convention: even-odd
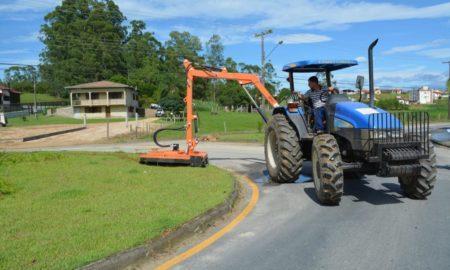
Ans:
[{"label": "thin grass strip between the two-storey house and the bare dirt", "polygon": [[[87,119],[88,124],[94,123],[106,123],[107,119]],[[124,122],[123,118],[110,118],[110,122]],[[29,116],[25,118],[25,121],[21,117],[8,118],[8,127],[23,127],[23,126],[41,126],[41,125],[69,125],[69,124],[83,124],[82,119],[75,119],[69,117],[61,116],[46,116],[38,114],[36,119],[34,116]]]}]

